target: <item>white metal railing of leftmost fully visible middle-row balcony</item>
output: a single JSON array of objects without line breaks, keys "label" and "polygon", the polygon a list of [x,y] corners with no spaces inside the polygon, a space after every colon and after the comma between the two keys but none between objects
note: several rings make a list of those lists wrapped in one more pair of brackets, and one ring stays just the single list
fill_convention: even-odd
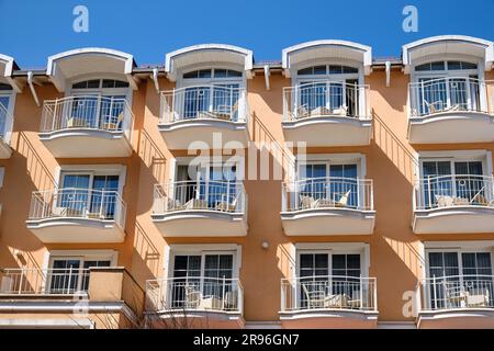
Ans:
[{"label": "white metal railing of leftmost fully visible middle-row balcony", "polygon": [[33,192],[29,219],[104,219],[124,228],[125,212],[126,205],[116,191],[66,188]]}]

